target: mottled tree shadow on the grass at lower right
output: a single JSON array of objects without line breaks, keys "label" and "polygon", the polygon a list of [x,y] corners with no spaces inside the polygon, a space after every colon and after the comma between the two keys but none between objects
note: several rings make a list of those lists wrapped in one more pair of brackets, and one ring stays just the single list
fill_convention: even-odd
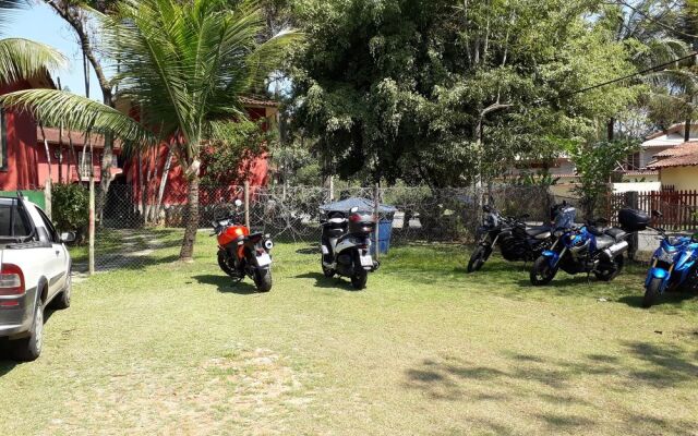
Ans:
[{"label": "mottled tree shadow on the grass at lower right", "polygon": [[[501,402],[501,409],[509,407],[509,401],[539,401],[540,409],[529,409],[525,419],[542,424],[551,434],[556,434],[580,429],[589,432],[600,425],[592,420],[598,413],[607,415],[613,421],[626,422],[627,425],[637,423],[639,415],[633,405],[616,403],[609,409],[602,391],[601,395],[594,395],[588,390],[599,388],[629,392],[637,387],[648,387],[661,391],[698,378],[695,358],[681,347],[640,341],[623,341],[618,344],[623,360],[598,353],[583,355],[574,362],[542,355],[506,353],[504,362],[500,361],[497,365],[453,356],[426,359],[405,371],[404,386],[406,389],[422,391],[437,401],[488,401],[488,407],[495,401]],[[574,388],[578,386],[587,386],[586,395],[575,393]],[[559,404],[578,405],[580,412],[543,412]],[[491,424],[508,426],[512,423],[507,417],[508,415],[503,415]],[[695,422],[685,420],[650,415],[647,422],[657,434],[688,435],[695,434],[697,429]]]}]

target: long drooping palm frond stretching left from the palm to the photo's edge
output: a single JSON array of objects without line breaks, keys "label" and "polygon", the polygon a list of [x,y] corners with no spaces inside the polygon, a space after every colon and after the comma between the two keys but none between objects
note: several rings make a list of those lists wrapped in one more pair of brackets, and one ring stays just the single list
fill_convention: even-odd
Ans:
[{"label": "long drooping palm frond stretching left from the palm to the photo's edge", "polygon": [[132,144],[152,144],[155,135],[128,114],[69,92],[58,89],[25,89],[0,96],[0,105],[29,111],[45,125],[111,133]]}]

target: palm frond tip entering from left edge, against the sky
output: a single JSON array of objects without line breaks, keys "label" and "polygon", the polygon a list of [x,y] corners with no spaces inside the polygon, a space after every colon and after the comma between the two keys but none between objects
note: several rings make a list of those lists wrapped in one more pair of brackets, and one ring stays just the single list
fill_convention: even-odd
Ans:
[{"label": "palm frond tip entering from left edge, against the sky", "polygon": [[23,38],[0,39],[0,83],[36,77],[68,65],[68,58],[41,43]]}]

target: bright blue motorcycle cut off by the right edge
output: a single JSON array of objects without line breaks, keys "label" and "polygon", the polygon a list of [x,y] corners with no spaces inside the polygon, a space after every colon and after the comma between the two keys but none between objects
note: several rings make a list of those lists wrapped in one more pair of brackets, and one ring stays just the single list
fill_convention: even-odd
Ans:
[{"label": "bright blue motorcycle cut off by the right edge", "polygon": [[[652,210],[652,215],[662,214]],[[666,290],[686,286],[698,288],[698,233],[693,237],[669,237],[661,227],[653,230],[662,237],[659,249],[651,259],[651,267],[645,279],[642,307],[650,307]]]}]

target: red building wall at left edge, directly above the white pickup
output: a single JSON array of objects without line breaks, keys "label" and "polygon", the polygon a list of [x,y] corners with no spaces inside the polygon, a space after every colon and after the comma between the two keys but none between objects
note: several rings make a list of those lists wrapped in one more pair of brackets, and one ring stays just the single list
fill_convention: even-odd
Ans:
[{"label": "red building wall at left edge, directly above the white pickup", "polygon": [[[20,82],[0,87],[0,94],[26,89],[31,86]],[[0,190],[32,190],[44,185],[37,171],[36,123],[27,112],[5,110],[7,162],[0,170]]]}]

